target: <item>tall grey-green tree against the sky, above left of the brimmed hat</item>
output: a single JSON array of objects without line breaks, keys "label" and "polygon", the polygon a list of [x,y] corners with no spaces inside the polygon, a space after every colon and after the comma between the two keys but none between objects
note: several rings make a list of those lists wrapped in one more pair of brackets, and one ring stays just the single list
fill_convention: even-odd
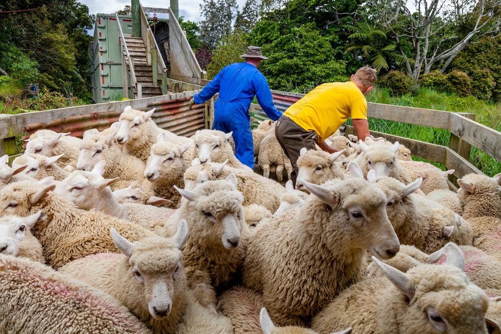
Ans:
[{"label": "tall grey-green tree against the sky, above left of the brimmed hat", "polygon": [[200,4],[200,12],[205,18],[200,22],[199,36],[202,44],[213,49],[223,37],[228,36],[236,10],[236,0],[204,0]]}]

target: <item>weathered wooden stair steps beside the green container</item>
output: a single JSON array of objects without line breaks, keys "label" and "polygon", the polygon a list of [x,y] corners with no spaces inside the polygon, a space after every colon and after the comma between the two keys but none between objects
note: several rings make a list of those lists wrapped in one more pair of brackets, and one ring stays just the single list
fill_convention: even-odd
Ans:
[{"label": "weathered wooden stair steps beside the green container", "polygon": [[[125,43],[129,49],[129,55],[134,60],[134,73],[136,75],[137,83],[141,85],[141,93],[143,98],[162,95],[161,87],[153,85],[153,72],[151,65],[146,62],[146,47],[144,46],[143,39],[140,37],[132,37],[124,35]],[[123,50],[123,49],[122,49]],[[124,55],[125,55],[125,51]],[[125,55],[127,69],[130,73],[130,64]],[[134,87],[134,95],[138,96],[137,87]]]}]

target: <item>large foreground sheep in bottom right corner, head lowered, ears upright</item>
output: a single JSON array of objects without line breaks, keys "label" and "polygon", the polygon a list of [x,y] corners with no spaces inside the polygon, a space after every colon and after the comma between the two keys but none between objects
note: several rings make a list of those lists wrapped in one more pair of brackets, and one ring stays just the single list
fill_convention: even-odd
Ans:
[{"label": "large foreground sheep in bottom right corner, head lowered, ears upright", "polygon": [[341,292],[313,319],[312,329],[329,333],[352,326],[354,334],[488,333],[489,299],[463,272],[461,252],[447,253],[445,265],[420,264],[407,273],[372,258],[386,277],[366,279]]}]

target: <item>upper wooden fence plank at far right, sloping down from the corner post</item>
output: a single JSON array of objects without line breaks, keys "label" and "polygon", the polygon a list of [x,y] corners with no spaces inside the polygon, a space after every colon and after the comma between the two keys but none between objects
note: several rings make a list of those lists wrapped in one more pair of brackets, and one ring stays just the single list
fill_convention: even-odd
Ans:
[{"label": "upper wooden fence plank at far right, sloping down from the corner post", "polygon": [[450,132],[501,161],[501,132],[457,114],[450,119]]}]

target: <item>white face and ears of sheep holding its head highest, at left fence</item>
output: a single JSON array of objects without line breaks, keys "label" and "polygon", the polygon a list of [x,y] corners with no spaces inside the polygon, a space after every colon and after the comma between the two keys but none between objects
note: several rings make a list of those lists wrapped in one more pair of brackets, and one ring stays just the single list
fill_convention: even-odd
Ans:
[{"label": "white face and ears of sheep holding its head highest, at left fence", "polygon": [[129,140],[134,140],[137,137],[142,136],[141,128],[146,122],[153,122],[151,120],[151,115],[155,109],[148,112],[142,112],[139,110],[126,107],[124,112],[120,114],[118,120],[118,130],[115,135],[115,140],[117,143],[123,145]]}]

